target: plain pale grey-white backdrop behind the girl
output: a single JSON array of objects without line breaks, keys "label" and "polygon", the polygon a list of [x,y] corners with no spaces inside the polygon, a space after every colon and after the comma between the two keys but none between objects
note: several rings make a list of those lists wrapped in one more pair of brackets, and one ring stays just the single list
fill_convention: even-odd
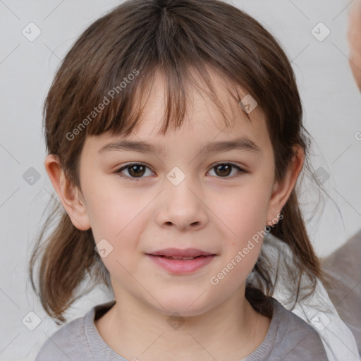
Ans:
[{"label": "plain pale grey-white backdrop behind the girl", "polygon": [[[356,0],[354,0],[356,1]],[[230,2],[230,1],[229,1]],[[312,166],[330,174],[322,207],[307,223],[320,256],[329,255],[361,228],[360,93],[348,66],[348,11],[353,1],[258,0],[231,4],[250,13],[276,36],[293,61],[305,110],[305,126],[313,136]],[[42,135],[42,105],[56,68],[75,39],[119,1],[0,1],[1,133],[0,133],[0,360],[34,360],[56,326],[44,314],[30,288],[27,263],[42,224],[42,211],[55,192],[47,178]],[[41,35],[30,42],[22,34],[33,22]],[[311,33],[322,22],[331,34],[319,42]],[[40,178],[23,179],[30,167]],[[301,201],[311,212],[318,195],[304,188]],[[310,214],[310,213],[308,213]],[[109,299],[95,291],[78,302],[71,317],[80,317]],[[22,323],[35,312],[41,324]]]}]

